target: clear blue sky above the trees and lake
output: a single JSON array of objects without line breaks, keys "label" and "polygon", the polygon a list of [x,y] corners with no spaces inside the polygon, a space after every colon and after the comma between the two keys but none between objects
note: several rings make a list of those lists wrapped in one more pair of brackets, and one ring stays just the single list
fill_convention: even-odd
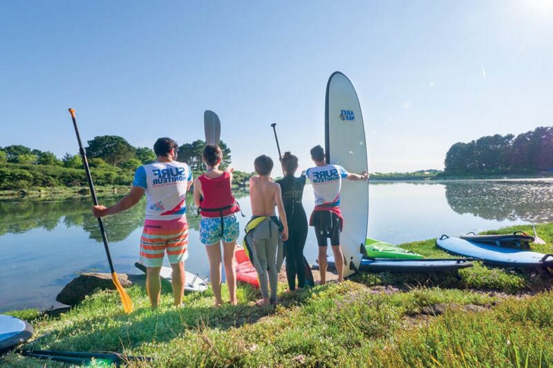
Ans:
[{"label": "clear blue sky above the trees and lake", "polygon": [[234,166],[310,164],[335,70],[357,89],[371,171],[442,168],[451,144],[553,123],[553,1],[2,1],[0,146],[152,146],[221,118]]}]

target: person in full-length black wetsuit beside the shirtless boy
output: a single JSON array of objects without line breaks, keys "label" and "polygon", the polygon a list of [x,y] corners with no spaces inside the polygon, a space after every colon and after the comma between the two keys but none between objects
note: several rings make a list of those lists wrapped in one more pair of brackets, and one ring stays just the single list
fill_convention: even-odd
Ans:
[{"label": "person in full-length black wetsuit beside the shirtless boy", "polygon": [[306,185],[306,173],[303,172],[300,177],[294,177],[298,168],[298,157],[290,152],[284,153],[281,164],[284,177],[276,182],[281,186],[282,201],[288,219],[288,240],[284,242],[284,255],[288,287],[290,291],[294,291],[296,276],[299,288],[306,284],[303,248],[306,246],[308,223],[306,211],[301,204],[303,186]]}]

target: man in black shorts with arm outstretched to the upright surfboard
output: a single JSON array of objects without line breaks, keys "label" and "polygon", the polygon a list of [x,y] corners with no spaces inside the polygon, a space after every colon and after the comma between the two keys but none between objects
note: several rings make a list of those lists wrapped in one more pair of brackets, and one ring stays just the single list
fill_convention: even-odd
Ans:
[{"label": "man in black shorts with arm outstretched to the upright surfboard", "polygon": [[308,168],[307,176],[315,192],[315,209],[311,214],[309,224],[315,226],[315,235],[319,245],[319,270],[321,284],[326,283],[326,249],[328,238],[336,260],[338,282],[344,281],[344,255],[340,246],[340,233],[344,227],[344,219],[340,212],[341,180],[368,180],[368,173],[348,173],[339,165],[326,163],[324,149],[321,146],[311,148],[311,159],[315,167]]}]

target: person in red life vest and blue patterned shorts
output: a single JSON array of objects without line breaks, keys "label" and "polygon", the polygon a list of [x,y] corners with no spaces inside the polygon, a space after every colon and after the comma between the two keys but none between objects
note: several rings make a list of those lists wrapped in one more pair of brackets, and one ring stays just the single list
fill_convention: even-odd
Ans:
[{"label": "person in red life vest and blue patterned shorts", "polygon": [[227,275],[230,303],[236,304],[236,266],[234,248],[240,226],[234,213],[240,207],[232,195],[232,169],[219,170],[223,159],[221,148],[207,145],[203,150],[203,162],[207,171],[194,181],[194,203],[199,209],[200,242],[205,245],[209,258],[209,279],[215,296],[215,305],[221,305],[221,246],[223,264]]}]

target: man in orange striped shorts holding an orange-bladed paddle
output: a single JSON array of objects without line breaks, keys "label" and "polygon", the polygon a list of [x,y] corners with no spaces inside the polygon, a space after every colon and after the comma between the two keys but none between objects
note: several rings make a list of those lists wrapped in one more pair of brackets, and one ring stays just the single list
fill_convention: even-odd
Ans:
[{"label": "man in orange striped shorts holding an orange-bladed paddle", "polygon": [[186,193],[192,184],[192,172],[187,164],[176,161],[178,145],[173,139],[158,139],[153,151],[158,161],[136,170],[131,192],[111,207],[94,206],[93,214],[102,217],[130,209],[146,194],[140,262],[147,267],[148,296],[152,307],[157,307],[161,291],[160,271],[163,256],[167,253],[173,269],[174,304],[180,306],[185,290],[184,261],[188,258]]}]

